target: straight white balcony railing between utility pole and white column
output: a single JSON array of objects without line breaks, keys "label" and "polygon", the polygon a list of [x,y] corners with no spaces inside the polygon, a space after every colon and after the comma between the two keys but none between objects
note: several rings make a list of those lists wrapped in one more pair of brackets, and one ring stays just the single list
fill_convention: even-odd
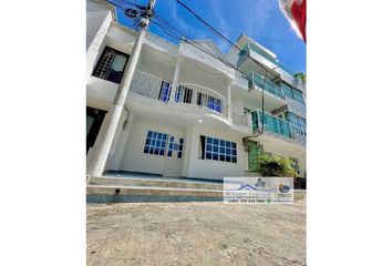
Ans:
[{"label": "straight white balcony railing between utility pole and white column", "polygon": [[136,70],[131,82],[131,91],[158,100],[162,81],[161,78]]}]

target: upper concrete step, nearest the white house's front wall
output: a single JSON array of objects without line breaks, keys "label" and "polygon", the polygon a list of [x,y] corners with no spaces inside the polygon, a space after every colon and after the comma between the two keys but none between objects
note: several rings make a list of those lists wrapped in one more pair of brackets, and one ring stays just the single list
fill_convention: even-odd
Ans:
[{"label": "upper concrete step, nearest the white house's front wall", "polygon": [[113,186],[147,186],[147,187],[173,187],[173,188],[197,188],[197,190],[216,190],[221,191],[223,184],[208,181],[189,181],[179,178],[137,178],[137,177],[90,177],[91,185],[113,185]]}]

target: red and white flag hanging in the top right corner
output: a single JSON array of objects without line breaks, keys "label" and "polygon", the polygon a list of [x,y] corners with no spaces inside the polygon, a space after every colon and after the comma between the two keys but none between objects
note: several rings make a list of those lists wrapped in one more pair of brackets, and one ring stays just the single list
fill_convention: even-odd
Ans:
[{"label": "red and white flag hanging in the top right corner", "polygon": [[279,0],[280,9],[283,12],[298,37],[307,42],[307,1],[306,0]]}]

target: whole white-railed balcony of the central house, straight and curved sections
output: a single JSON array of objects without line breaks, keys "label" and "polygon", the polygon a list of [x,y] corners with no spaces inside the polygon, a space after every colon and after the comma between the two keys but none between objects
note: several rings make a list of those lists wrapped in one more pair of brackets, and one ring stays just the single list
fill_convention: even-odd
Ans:
[{"label": "whole white-railed balcony of the central house, straight and curved sections", "polygon": [[[131,91],[167,103],[172,93],[172,83],[136,70],[131,83]],[[226,99],[218,92],[206,86],[179,83],[175,91],[174,102],[202,108],[227,117]]]}]

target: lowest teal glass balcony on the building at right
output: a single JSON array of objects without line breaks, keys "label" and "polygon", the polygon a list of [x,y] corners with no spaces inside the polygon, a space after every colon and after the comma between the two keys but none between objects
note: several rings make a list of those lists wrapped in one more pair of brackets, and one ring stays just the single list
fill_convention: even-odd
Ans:
[{"label": "lowest teal glass balcony on the building at right", "polygon": [[[251,115],[251,129],[254,133],[257,133],[261,130],[264,124],[265,132],[269,132],[277,137],[281,137],[286,141],[297,143],[299,145],[305,145],[307,132],[293,124],[281,120],[272,114],[267,112],[264,113],[261,110],[254,110],[250,112]],[[262,124],[261,124],[261,121]]]}]

